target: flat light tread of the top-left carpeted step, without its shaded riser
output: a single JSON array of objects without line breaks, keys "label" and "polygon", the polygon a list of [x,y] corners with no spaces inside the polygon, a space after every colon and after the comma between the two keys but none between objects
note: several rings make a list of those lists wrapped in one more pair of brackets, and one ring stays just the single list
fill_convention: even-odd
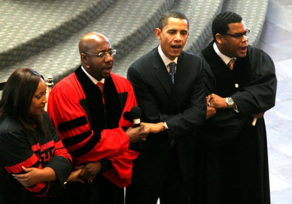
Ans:
[{"label": "flat light tread of the top-left carpeted step, without its shaded riser", "polygon": [[[112,1],[112,0],[110,0]],[[109,0],[50,0],[50,1],[1,1],[0,13],[3,26],[0,29],[0,53],[40,38],[39,41],[52,43],[56,38],[71,35],[87,23],[92,7],[106,7]],[[94,13],[99,14],[94,7]],[[92,15],[93,12],[91,12]],[[92,15],[93,16],[93,15]],[[80,18],[80,19],[78,19]],[[5,21],[4,21],[5,19]],[[56,29],[58,29],[56,31]],[[52,39],[47,33],[55,31]],[[47,36],[43,37],[43,36]],[[43,37],[43,39],[41,39]],[[55,37],[55,39],[54,39]]]}]

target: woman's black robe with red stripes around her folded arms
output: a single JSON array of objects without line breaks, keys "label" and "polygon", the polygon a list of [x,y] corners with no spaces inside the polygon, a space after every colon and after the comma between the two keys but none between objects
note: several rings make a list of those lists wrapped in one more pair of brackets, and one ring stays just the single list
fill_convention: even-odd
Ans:
[{"label": "woman's black robe with red stripes around her folded arms", "polygon": [[[0,135],[0,159],[4,169],[9,174],[23,174],[25,168],[51,167],[57,180],[46,182],[42,181],[30,187],[24,187],[36,197],[47,197],[60,195],[64,181],[68,178],[72,170],[71,156],[63,148],[60,140],[51,138],[45,142],[31,144],[28,138],[32,135],[24,134],[22,131],[12,131]],[[40,140],[47,136],[39,136]],[[56,141],[56,143],[55,143]]]}]

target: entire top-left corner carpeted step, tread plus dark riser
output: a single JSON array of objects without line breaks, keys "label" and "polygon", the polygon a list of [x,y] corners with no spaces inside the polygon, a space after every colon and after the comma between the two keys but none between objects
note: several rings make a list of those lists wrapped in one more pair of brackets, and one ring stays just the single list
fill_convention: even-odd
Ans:
[{"label": "entire top-left corner carpeted step, tread plus dark riser", "polygon": [[62,42],[98,17],[112,1],[0,1],[0,68]]}]

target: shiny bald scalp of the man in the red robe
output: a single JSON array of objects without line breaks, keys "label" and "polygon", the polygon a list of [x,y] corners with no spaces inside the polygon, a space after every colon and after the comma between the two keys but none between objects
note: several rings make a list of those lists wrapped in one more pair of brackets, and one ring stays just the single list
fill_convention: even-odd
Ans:
[{"label": "shiny bald scalp of the man in the red robe", "polygon": [[104,42],[110,43],[109,39],[100,33],[88,33],[81,37],[79,41],[79,53],[91,52]]}]

